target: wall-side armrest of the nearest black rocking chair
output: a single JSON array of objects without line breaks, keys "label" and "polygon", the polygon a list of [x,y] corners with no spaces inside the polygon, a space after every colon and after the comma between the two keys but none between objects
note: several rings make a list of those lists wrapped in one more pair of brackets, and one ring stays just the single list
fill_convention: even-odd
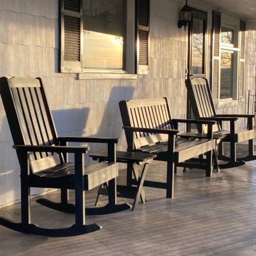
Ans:
[{"label": "wall-side armrest of the nearest black rocking chair", "polygon": [[120,138],[111,137],[83,137],[83,136],[59,136],[59,142],[92,142],[92,143],[119,143]]}]

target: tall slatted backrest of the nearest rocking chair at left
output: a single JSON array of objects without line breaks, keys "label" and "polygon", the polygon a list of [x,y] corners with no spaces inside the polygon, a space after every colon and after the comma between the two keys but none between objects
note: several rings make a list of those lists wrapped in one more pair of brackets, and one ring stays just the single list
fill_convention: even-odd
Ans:
[{"label": "tall slatted backrest of the nearest rocking chair at left", "polygon": [[[15,145],[58,145],[40,78],[0,78],[0,94]],[[32,172],[63,163],[61,154],[30,153]]]}]

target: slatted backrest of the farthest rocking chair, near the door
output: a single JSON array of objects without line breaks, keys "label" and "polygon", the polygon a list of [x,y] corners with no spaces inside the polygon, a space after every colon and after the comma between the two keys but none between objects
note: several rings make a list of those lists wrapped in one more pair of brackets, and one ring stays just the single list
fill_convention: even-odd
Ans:
[{"label": "slatted backrest of the farthest rocking chair, near the door", "polygon": [[[216,110],[213,104],[210,88],[205,78],[185,80],[187,94],[195,117],[214,117]],[[213,126],[213,131],[220,130],[219,124]],[[204,130],[205,131],[205,130]]]}]

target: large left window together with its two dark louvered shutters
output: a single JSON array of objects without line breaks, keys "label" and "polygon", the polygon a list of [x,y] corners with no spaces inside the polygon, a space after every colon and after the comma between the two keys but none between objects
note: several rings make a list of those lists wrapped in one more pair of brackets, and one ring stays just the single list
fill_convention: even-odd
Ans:
[{"label": "large left window together with its two dark louvered shutters", "polygon": [[149,0],[60,3],[60,72],[148,73]]}]

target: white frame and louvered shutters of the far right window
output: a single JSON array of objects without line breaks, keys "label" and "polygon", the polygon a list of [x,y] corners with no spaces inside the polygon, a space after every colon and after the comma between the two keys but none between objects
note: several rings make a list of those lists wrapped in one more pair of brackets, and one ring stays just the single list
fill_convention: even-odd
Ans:
[{"label": "white frame and louvered shutters of the far right window", "polygon": [[[221,26],[234,27],[234,44],[221,43]],[[219,11],[212,11],[211,38],[211,92],[214,105],[222,101],[237,100],[244,96],[244,55],[245,55],[245,21]],[[220,57],[221,50],[232,50],[233,82],[232,97],[220,98]]]}]

